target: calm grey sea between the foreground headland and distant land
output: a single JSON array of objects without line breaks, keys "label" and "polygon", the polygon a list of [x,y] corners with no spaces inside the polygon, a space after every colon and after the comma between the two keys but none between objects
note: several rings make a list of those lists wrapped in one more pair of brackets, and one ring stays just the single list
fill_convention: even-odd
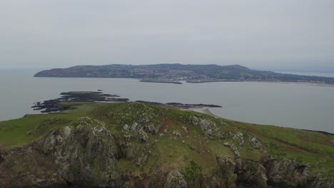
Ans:
[{"label": "calm grey sea between the foreground headland and distant land", "polygon": [[[302,83],[141,83],[126,78],[34,78],[40,70],[0,69],[0,120],[38,113],[36,101],[72,90],[103,90],[131,100],[206,103],[231,120],[334,133],[334,86]],[[333,75],[334,76],[334,75]]]}]

